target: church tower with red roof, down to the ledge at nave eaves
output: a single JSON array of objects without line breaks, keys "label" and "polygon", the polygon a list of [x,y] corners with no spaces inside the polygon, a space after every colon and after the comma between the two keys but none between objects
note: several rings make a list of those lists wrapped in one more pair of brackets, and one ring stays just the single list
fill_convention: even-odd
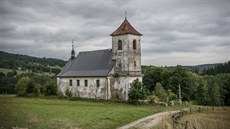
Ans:
[{"label": "church tower with red roof, down to the ledge at nave eaves", "polygon": [[110,36],[112,36],[113,59],[116,60],[115,75],[141,78],[142,34],[125,18]]}]

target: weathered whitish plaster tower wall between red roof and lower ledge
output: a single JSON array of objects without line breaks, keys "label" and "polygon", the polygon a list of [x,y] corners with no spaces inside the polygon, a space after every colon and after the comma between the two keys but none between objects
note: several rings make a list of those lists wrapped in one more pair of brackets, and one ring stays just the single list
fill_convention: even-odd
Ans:
[{"label": "weathered whitish plaster tower wall between red roof and lower ledge", "polygon": [[[113,59],[116,59],[115,71],[128,72],[131,76],[141,75],[141,42],[140,36],[126,34],[112,37]],[[133,49],[133,40],[136,49]],[[118,41],[122,41],[122,50],[118,50]],[[136,61],[136,66],[134,66]],[[121,64],[121,67],[120,65]]]}]

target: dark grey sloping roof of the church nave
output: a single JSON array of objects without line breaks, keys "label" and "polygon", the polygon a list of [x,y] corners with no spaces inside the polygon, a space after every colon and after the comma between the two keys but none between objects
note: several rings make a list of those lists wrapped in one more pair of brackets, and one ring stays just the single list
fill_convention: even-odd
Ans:
[{"label": "dark grey sloping roof of the church nave", "polygon": [[76,58],[69,60],[58,77],[104,77],[115,64],[112,50],[80,52]]}]

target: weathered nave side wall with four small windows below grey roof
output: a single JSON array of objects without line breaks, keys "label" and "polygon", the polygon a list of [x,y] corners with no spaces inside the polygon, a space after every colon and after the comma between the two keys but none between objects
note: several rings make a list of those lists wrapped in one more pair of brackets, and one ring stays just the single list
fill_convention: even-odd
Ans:
[{"label": "weathered nave side wall with four small windows below grey roof", "polygon": [[[69,80],[72,80],[72,86],[70,86]],[[80,81],[80,86],[77,86],[77,80]],[[88,80],[88,86],[85,86],[84,80]],[[100,80],[99,87],[96,86],[96,80]],[[57,78],[57,83],[59,91],[64,95],[66,90],[69,90],[75,97],[107,99],[106,77]]]}]

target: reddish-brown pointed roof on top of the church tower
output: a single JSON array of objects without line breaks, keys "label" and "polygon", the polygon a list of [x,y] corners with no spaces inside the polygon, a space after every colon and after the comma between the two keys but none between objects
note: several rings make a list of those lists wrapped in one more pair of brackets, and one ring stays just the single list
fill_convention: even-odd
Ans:
[{"label": "reddish-brown pointed roof on top of the church tower", "polygon": [[124,34],[134,34],[134,35],[142,35],[137,30],[133,28],[133,26],[129,23],[129,21],[125,18],[120,27],[115,30],[110,36],[124,35]]}]

